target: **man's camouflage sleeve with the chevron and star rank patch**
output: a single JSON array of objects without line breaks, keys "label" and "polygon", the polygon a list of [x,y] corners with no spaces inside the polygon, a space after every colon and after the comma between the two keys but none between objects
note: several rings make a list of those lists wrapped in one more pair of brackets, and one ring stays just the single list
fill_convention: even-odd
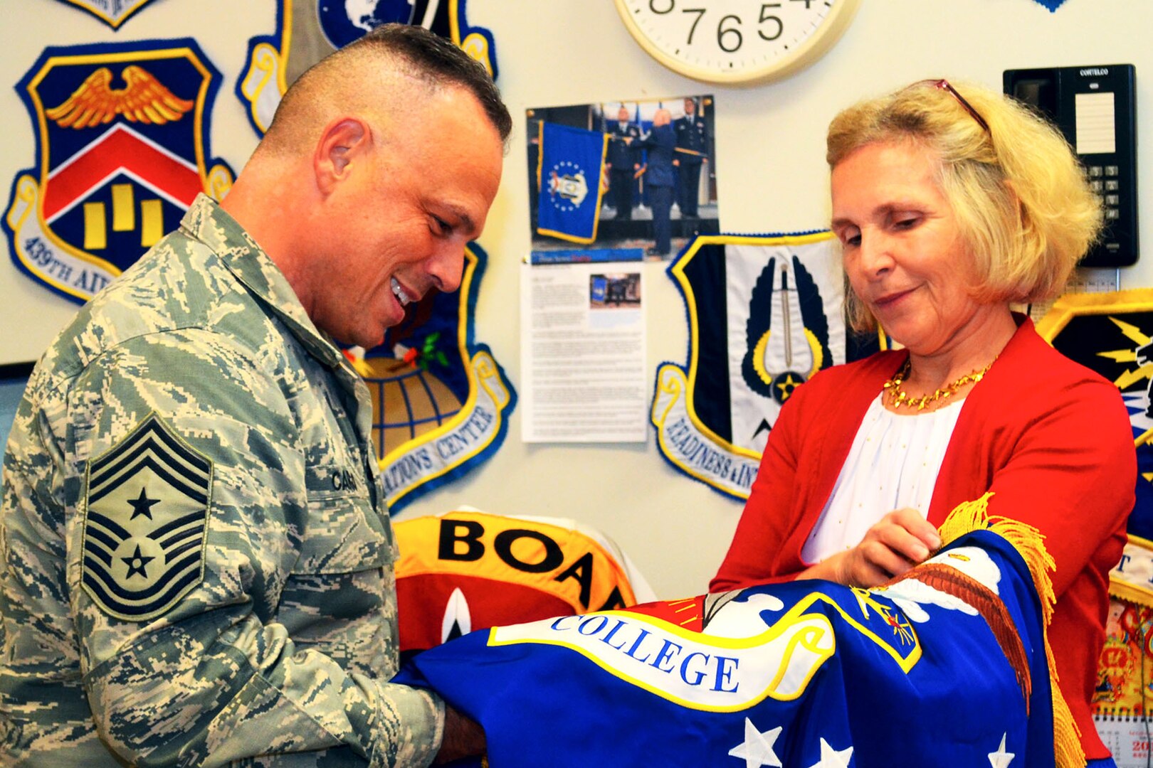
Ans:
[{"label": "man's camouflage sleeve with the chevron and star rank patch", "polygon": [[[346,496],[324,502],[331,530],[307,527],[325,518],[309,515],[321,502],[306,473],[310,425],[289,408],[293,372],[270,370],[286,365],[220,334],[161,333],[105,352],[71,388],[56,431],[81,488],[66,500],[77,504],[71,610],[97,727],[131,763],[326,750],[323,765],[425,766],[439,746],[443,702],[386,679],[395,642],[387,520],[380,529]],[[149,444],[135,436],[142,424],[161,425],[149,427]],[[118,446],[131,450],[121,457]],[[201,488],[197,538],[186,496]],[[161,525],[169,502],[184,507]],[[317,538],[332,550],[310,552]],[[291,584],[324,593],[312,610],[326,621],[296,610],[294,625],[284,623]],[[366,664],[353,648],[368,646],[377,652]]]}]

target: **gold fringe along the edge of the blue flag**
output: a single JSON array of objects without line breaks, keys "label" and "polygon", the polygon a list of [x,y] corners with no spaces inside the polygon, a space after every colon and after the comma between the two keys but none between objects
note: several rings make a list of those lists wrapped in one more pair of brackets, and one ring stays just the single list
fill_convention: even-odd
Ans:
[{"label": "gold fringe along the edge of the blue flag", "polygon": [[1045,624],[1045,659],[1049,663],[1049,686],[1053,690],[1053,748],[1056,753],[1057,768],[1085,768],[1085,751],[1080,745],[1080,729],[1073,722],[1069,705],[1061,695],[1057,679],[1057,667],[1053,660],[1053,648],[1049,646],[1049,621],[1053,618],[1053,606],[1056,595],[1053,593],[1053,579],[1049,572],[1056,570],[1053,556],[1045,548],[1045,534],[1027,523],[1008,517],[989,515],[989,497],[993,492],[980,499],[957,504],[939,529],[941,546],[956,541],[970,531],[993,531],[1011,543],[1028,565],[1033,577],[1033,586],[1041,599],[1041,618]]}]

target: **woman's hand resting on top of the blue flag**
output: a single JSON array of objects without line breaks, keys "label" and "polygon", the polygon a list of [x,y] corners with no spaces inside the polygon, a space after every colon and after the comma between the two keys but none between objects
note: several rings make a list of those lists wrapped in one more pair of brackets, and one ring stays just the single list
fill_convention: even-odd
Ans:
[{"label": "woman's hand resting on top of the blue flag", "polygon": [[800,575],[854,587],[875,587],[941,547],[941,537],[915,509],[897,509],[882,517],[852,549],[832,555]]}]

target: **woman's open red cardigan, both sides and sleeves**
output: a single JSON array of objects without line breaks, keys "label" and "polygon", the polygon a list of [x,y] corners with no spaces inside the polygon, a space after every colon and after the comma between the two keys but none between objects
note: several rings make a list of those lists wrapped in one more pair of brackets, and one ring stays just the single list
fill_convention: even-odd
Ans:
[{"label": "woman's open red cardigan, both sides and sleeves", "polygon": [[[1046,535],[1057,595],[1049,641],[1088,759],[1108,756],[1090,716],[1105,641],[1109,569],[1121,558],[1137,458],[1117,388],[1049,347],[1028,319],[965,398],[928,520],[993,491],[989,514]],[[832,493],[857,429],[906,352],[820,372],[785,402],[732,546],[709,585],[785,581]],[[889,510],[886,510],[889,511]]]}]

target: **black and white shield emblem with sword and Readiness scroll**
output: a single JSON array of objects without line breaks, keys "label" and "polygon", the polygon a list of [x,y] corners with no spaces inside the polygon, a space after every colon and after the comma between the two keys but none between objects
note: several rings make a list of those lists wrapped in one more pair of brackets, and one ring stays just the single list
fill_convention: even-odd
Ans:
[{"label": "black and white shield emblem with sword and Readiness scroll", "polygon": [[653,425],[676,469],[747,499],[793,390],[845,362],[844,286],[828,231],[702,235],[669,265],[685,298],[688,364],[657,368]]}]

